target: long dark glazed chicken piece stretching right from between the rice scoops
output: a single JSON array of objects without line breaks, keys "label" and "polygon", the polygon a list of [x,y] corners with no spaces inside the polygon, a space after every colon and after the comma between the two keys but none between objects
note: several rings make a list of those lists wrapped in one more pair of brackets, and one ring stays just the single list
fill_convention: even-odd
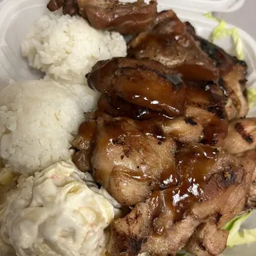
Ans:
[{"label": "long dark glazed chicken piece stretching right from between the rice scoops", "polygon": [[87,78],[102,92],[101,111],[137,120],[192,118],[204,127],[204,144],[220,145],[228,130],[224,92],[212,81],[184,83],[181,75],[153,60],[116,58],[98,62]]}]

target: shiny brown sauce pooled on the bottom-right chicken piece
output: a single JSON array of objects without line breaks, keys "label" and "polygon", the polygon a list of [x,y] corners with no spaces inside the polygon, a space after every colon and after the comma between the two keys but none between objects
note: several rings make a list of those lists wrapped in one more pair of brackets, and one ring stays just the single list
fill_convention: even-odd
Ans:
[{"label": "shiny brown sauce pooled on the bottom-right chicken piece", "polygon": [[218,150],[207,145],[180,145],[176,164],[181,183],[164,192],[165,204],[171,202],[175,219],[183,217],[195,202],[203,197],[204,183],[218,159]]}]

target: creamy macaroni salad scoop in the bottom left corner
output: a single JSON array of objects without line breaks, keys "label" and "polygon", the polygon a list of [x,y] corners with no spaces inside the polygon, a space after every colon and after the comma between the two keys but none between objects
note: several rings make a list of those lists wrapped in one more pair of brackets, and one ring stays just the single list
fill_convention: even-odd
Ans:
[{"label": "creamy macaroni salad scoop in the bottom left corner", "polygon": [[88,174],[60,162],[20,179],[0,211],[0,234],[19,256],[103,255],[117,207]]}]

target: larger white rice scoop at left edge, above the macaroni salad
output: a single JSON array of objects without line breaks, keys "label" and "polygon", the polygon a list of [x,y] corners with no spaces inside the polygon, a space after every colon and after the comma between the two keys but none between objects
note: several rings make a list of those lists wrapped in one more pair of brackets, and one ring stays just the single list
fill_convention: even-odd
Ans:
[{"label": "larger white rice scoop at left edge, above the macaroni salad", "polygon": [[84,112],[97,103],[87,86],[46,80],[12,82],[0,94],[0,158],[23,174],[69,159]]}]

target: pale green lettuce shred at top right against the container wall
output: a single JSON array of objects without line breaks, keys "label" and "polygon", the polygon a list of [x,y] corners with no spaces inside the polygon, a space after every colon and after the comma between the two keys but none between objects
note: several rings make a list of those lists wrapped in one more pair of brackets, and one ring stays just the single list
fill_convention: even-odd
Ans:
[{"label": "pale green lettuce shred at top right against the container wall", "polygon": [[244,47],[243,47],[243,41],[241,40],[239,36],[239,31],[237,28],[226,28],[226,22],[223,20],[220,20],[216,17],[213,17],[210,12],[205,14],[205,17],[208,19],[211,19],[213,21],[218,21],[219,25],[216,26],[214,31],[211,33],[211,41],[214,42],[215,40],[220,40],[223,37],[231,36],[233,43],[235,45],[235,52],[238,59],[244,59]]}]

